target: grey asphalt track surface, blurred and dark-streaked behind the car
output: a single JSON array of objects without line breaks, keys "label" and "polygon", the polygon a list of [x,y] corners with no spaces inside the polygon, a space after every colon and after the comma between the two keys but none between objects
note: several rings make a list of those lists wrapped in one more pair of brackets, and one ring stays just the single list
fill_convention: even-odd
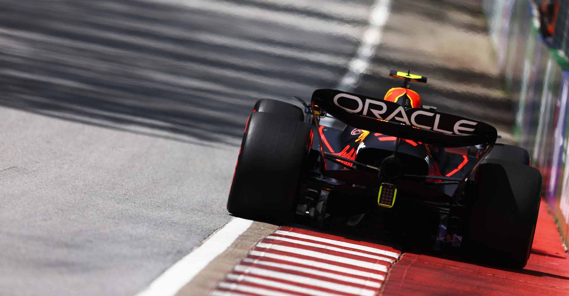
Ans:
[{"label": "grey asphalt track surface, blurred and dark-streaked behind the car", "polygon": [[[374,1],[0,1],[0,294],[134,295],[231,216],[258,98],[334,88]],[[480,1],[391,1],[353,87],[429,77],[426,105],[494,124]]]}]

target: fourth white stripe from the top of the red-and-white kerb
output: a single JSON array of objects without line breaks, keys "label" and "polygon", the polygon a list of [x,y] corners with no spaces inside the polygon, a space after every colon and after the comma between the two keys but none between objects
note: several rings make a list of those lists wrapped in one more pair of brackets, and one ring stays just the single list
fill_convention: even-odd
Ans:
[{"label": "fourth white stripe from the top of the red-and-white kerb", "polygon": [[[261,251],[255,251],[255,250],[249,251],[249,255],[250,256],[258,256],[258,257],[266,257],[266,258],[270,258],[270,259],[277,259],[277,260],[283,260],[283,261],[289,261],[289,262],[295,262],[295,263],[302,264],[302,265],[333,270],[335,272],[343,272],[343,273],[353,274],[354,276],[374,278],[374,279],[380,280],[380,281],[385,280],[385,277],[382,274],[364,272],[362,270],[346,268],[344,266],[338,266],[338,265],[328,264],[328,263],[314,261],[314,260],[300,259],[297,257],[284,256],[284,255],[278,255],[278,254],[274,254],[274,253],[270,253],[270,252],[261,252]],[[378,265],[376,270],[378,272],[387,272],[387,267],[385,265]]]}]

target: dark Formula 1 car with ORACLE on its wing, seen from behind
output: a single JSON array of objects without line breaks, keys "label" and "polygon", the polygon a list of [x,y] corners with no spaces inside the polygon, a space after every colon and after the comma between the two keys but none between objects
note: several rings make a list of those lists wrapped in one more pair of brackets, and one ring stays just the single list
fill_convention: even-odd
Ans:
[{"label": "dark Formula 1 car with ORACLE on its wing, seen from behind", "polygon": [[[433,245],[458,247],[476,259],[525,266],[542,184],[529,153],[497,144],[489,124],[423,106],[409,84],[426,77],[390,76],[403,86],[384,99],[319,89],[304,110],[257,101],[228,211],[320,227],[387,217],[393,220],[382,227],[408,226],[400,234],[431,237]],[[343,126],[324,126],[331,118]]]}]

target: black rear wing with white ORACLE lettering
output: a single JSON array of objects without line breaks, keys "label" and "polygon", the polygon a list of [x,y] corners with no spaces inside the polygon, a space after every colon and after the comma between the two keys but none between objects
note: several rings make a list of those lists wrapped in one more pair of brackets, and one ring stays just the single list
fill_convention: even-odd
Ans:
[{"label": "black rear wing with white ORACLE lettering", "polygon": [[489,124],[429,109],[403,109],[383,101],[332,89],[312,94],[318,106],[348,126],[444,147],[496,143],[496,128]]}]

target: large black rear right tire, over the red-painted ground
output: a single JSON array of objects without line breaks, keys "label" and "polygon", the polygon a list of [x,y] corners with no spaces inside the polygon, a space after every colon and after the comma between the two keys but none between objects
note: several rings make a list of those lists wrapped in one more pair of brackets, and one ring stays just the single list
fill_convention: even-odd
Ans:
[{"label": "large black rear right tire, over the red-painted ground", "polygon": [[539,170],[489,159],[469,188],[465,255],[493,264],[523,268],[531,251],[541,199]]}]

